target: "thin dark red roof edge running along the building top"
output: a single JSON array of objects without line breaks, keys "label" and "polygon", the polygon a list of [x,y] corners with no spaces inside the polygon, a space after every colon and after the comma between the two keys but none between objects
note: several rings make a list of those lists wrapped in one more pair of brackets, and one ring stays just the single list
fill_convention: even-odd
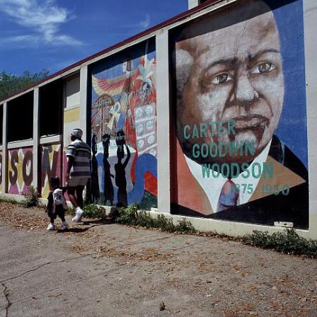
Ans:
[{"label": "thin dark red roof edge running along the building top", "polygon": [[144,36],[144,35],[147,35],[147,34],[149,34],[149,33],[152,33],[152,32],[154,32],[154,31],[156,31],[156,30],[159,30],[160,28],[164,28],[164,27],[166,27],[167,25],[170,25],[170,24],[172,24],[172,23],[174,23],[174,22],[176,22],[176,21],[182,20],[183,18],[187,18],[187,17],[190,16],[191,14],[196,13],[196,12],[202,10],[202,8],[206,8],[207,6],[210,6],[210,5],[212,5],[212,4],[216,4],[217,2],[220,2],[220,1],[222,1],[222,0],[208,0],[208,1],[204,2],[203,4],[200,4],[200,5],[198,5],[198,6],[195,6],[194,8],[191,8],[191,9],[188,10],[188,11],[185,11],[185,12],[183,12],[183,13],[178,14],[177,16],[174,16],[173,18],[170,18],[170,19],[168,19],[168,20],[166,20],[166,21],[163,21],[163,22],[161,22],[161,23],[159,23],[159,24],[157,24],[157,25],[154,25],[154,26],[152,26],[151,28],[148,28],[147,30],[142,31],[141,33],[137,33],[136,35],[133,35],[133,36],[130,37],[130,38],[127,38],[127,39],[125,39],[125,40],[122,40],[121,42],[118,42],[117,44],[106,48],[105,50],[101,50],[100,52],[97,52],[96,54],[93,54],[93,55],[91,55],[91,56],[89,56],[89,57],[85,57],[84,59],[79,60],[79,62],[76,62],[76,63],[74,63],[74,64],[71,64],[69,67],[65,67],[64,69],[61,69],[60,71],[57,71],[56,73],[54,73],[54,74],[52,74],[52,75],[50,75],[50,76],[45,77],[45,79],[42,79],[41,81],[37,81],[37,82],[35,82],[35,83],[32,83],[32,84],[30,84],[29,86],[26,86],[25,88],[21,89],[20,91],[16,91],[15,93],[12,93],[11,95],[6,96],[5,98],[3,98],[3,99],[0,100],[0,103],[1,103],[2,101],[4,101],[4,100],[8,99],[8,98],[11,98],[11,97],[13,97],[13,96],[18,95],[19,93],[23,93],[23,91],[27,91],[27,90],[30,89],[30,88],[33,88],[33,87],[35,87],[35,86],[38,86],[40,83],[43,83],[43,82],[45,82],[45,81],[47,81],[47,80],[50,80],[50,79],[52,79],[52,78],[54,78],[54,77],[56,77],[56,76],[59,76],[60,74],[63,74],[65,71],[69,71],[69,70],[72,69],[72,68],[79,67],[81,64],[83,64],[83,63],[85,63],[85,62],[88,62],[90,59],[94,59],[94,58],[96,58],[96,57],[99,57],[100,55],[103,55],[103,54],[108,53],[108,52],[110,52],[110,51],[112,51],[112,50],[115,50],[115,49],[117,49],[118,47],[122,47],[122,46],[128,44],[129,42],[132,42],[132,41],[134,41],[134,40],[137,40],[137,39],[139,39],[139,38],[142,38],[142,36]]}]

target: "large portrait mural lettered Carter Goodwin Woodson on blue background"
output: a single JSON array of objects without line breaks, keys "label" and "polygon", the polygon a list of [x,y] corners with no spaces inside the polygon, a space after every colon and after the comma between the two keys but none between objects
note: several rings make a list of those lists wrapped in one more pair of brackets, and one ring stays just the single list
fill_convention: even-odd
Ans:
[{"label": "large portrait mural lettered Carter Goodwin Woodson on blue background", "polygon": [[176,214],[308,228],[302,10],[239,1],[171,35]]}]

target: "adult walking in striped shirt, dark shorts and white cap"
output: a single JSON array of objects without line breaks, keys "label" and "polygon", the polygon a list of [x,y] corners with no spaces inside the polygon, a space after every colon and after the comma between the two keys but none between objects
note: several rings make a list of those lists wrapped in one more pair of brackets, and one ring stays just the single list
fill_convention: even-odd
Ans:
[{"label": "adult walking in striped shirt, dark shorts and white cap", "polygon": [[67,156],[67,194],[75,208],[73,222],[81,221],[83,214],[83,188],[91,177],[91,148],[83,142],[81,129],[71,131],[71,143],[66,152]]}]

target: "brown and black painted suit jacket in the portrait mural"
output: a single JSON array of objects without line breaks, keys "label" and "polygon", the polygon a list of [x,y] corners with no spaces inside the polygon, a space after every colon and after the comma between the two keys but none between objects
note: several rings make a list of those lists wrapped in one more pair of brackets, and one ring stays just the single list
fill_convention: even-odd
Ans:
[{"label": "brown and black painted suit jacket in the portrait mural", "polygon": [[[214,212],[207,195],[190,173],[183,151],[176,142],[176,166],[172,172],[178,180],[172,184],[171,211],[174,214],[207,217],[228,221],[273,225],[275,221],[290,221],[295,228],[309,227],[309,177],[303,163],[277,137],[272,138],[267,163],[273,163],[273,178],[260,178],[258,186],[246,204],[222,212]],[[172,174],[173,175],[173,174]],[[247,183],[247,180],[246,180]],[[265,192],[265,185],[289,186],[288,195]],[[269,186],[270,188],[270,186]]]}]

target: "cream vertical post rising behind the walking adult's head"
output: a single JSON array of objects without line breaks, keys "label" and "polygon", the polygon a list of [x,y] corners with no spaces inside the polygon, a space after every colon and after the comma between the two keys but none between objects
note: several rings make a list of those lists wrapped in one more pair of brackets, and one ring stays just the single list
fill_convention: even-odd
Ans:
[{"label": "cream vertical post rising behind the walking adult's head", "polygon": [[81,67],[80,75],[80,109],[79,109],[79,125],[83,130],[83,142],[87,138],[87,84],[88,84],[88,67]]}]

